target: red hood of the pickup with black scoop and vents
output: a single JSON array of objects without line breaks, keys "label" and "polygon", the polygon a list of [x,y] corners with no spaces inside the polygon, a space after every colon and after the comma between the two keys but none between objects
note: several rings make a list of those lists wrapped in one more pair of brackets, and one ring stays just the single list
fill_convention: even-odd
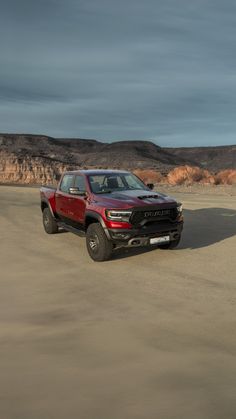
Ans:
[{"label": "red hood of the pickup with black scoop and vents", "polygon": [[94,201],[106,208],[132,208],[176,203],[175,199],[170,196],[145,189],[94,194]]}]

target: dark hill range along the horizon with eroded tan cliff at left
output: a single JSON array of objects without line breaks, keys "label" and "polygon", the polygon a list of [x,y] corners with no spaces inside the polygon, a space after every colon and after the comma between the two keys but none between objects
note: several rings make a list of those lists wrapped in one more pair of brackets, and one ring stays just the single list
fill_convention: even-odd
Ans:
[{"label": "dark hill range along the horizon with eroded tan cliff at left", "polygon": [[163,148],[151,141],[104,143],[80,138],[0,134],[0,182],[44,183],[63,170],[81,167],[153,169],[199,166],[236,169],[236,146]]}]

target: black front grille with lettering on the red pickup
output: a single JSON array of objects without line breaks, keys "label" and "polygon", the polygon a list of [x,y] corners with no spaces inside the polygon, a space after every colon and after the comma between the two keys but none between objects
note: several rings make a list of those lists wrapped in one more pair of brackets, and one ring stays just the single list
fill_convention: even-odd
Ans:
[{"label": "black front grille with lettering on the red pickup", "polygon": [[130,222],[133,225],[143,224],[153,222],[153,221],[162,221],[162,220],[175,220],[178,216],[177,208],[158,208],[158,209],[147,209],[134,211],[130,217]]}]

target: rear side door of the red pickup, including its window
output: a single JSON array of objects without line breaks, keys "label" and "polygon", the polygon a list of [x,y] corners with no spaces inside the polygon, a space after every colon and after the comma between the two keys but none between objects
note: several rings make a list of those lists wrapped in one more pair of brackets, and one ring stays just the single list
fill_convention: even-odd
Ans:
[{"label": "rear side door of the red pickup, including its window", "polygon": [[72,196],[69,194],[69,188],[73,186],[73,182],[74,175],[64,175],[55,194],[56,211],[63,221],[67,221],[69,218],[71,218],[70,203]]}]

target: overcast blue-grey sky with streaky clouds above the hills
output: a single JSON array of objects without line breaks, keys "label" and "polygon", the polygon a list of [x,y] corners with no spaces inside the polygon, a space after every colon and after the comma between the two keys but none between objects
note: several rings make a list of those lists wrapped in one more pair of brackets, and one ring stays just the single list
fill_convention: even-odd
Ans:
[{"label": "overcast blue-grey sky with streaky clouds above the hills", "polygon": [[0,132],[236,144],[235,0],[0,6]]}]

